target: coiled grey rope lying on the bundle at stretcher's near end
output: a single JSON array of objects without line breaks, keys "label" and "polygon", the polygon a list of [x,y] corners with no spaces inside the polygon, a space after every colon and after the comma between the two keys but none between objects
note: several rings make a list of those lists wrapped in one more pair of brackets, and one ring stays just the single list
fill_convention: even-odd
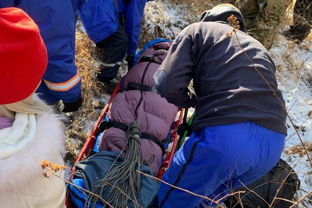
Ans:
[{"label": "coiled grey rope lying on the bundle at stretcher's near end", "polygon": [[[108,188],[111,188],[106,201],[114,207],[127,207],[129,197],[133,200],[134,208],[139,207],[136,197],[140,190],[140,174],[136,170],[139,170],[143,161],[139,148],[140,136],[140,122],[138,120],[133,121],[127,130],[125,148],[118,155],[106,176],[93,184],[95,188],[92,192],[100,196],[102,196]],[[120,165],[115,164],[125,149],[127,152],[124,161]],[[85,207],[90,207],[91,203],[92,207],[95,207],[98,201],[98,197],[90,194],[86,200]],[[103,207],[105,207],[105,205]]]}]

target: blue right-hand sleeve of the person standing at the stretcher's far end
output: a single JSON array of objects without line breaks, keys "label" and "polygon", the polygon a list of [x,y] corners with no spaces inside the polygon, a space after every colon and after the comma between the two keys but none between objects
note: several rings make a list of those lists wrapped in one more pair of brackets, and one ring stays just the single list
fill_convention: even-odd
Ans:
[{"label": "blue right-hand sleeve of the person standing at the stretcher's far end", "polygon": [[134,55],[141,34],[141,23],[147,0],[131,0],[125,13],[125,31],[128,36],[128,55]]}]

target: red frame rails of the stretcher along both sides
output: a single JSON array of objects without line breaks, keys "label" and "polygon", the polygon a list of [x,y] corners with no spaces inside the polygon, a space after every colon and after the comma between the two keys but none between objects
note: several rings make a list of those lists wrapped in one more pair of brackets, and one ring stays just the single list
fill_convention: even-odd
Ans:
[{"label": "red frame rails of the stretcher along both sides", "polygon": [[[96,124],[94,125],[92,131],[90,132],[88,138],[87,138],[87,141],[85,142],[83,148],[81,149],[80,151],[80,154],[79,156],[77,157],[75,163],[77,162],[80,162],[83,160],[84,157],[87,157],[90,149],[93,149],[94,148],[94,145],[96,143],[96,134],[99,130],[99,126],[101,124],[101,122],[104,120],[108,110],[109,110],[109,105],[110,103],[112,102],[114,96],[121,90],[121,82],[119,82],[119,84],[117,85],[116,89],[114,90],[114,92],[112,93],[110,99],[107,101],[107,104],[104,106],[101,114],[100,114],[100,117],[98,118]],[[177,143],[178,143],[178,133],[177,133],[177,128],[178,126],[182,123],[182,117],[183,117],[183,113],[184,112],[184,108],[179,108],[179,112],[180,112],[180,115],[179,115],[179,118],[178,120],[174,121],[174,123],[172,124],[172,127],[170,129],[170,138],[171,140],[173,141],[173,146],[171,148],[171,150],[173,151],[167,151],[166,150],[166,153],[163,157],[163,161],[162,161],[162,164],[161,164],[161,167],[160,167],[160,171],[157,175],[157,178],[161,179],[164,175],[164,173],[166,172],[166,170],[168,169],[171,161],[172,161],[172,158],[174,156],[174,150],[176,149],[176,146],[177,146]],[[178,112],[178,113],[179,113]],[[75,172],[75,166],[73,165],[71,171],[70,171],[70,174],[74,173]],[[66,199],[65,199],[65,205],[66,205],[66,208],[70,208],[71,207],[71,199],[70,199],[70,194],[68,192],[68,190],[66,189]]]}]

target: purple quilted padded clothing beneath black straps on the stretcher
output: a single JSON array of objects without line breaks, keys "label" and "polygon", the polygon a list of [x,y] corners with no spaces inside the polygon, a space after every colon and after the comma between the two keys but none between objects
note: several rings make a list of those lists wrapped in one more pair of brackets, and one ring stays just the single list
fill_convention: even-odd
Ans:
[{"label": "purple quilted padded clothing beneath black straps on the stretcher", "polygon": [[[133,120],[140,120],[141,132],[151,134],[162,142],[168,135],[178,108],[154,92],[128,90],[129,83],[154,86],[152,76],[165,59],[171,43],[160,42],[141,53],[137,63],[123,78],[123,91],[113,98],[108,112],[110,121],[120,121],[129,125]],[[118,151],[125,147],[126,132],[111,127],[104,131],[100,141],[100,150]],[[162,149],[156,143],[140,139],[143,159],[150,164],[154,175],[159,171]]]}]

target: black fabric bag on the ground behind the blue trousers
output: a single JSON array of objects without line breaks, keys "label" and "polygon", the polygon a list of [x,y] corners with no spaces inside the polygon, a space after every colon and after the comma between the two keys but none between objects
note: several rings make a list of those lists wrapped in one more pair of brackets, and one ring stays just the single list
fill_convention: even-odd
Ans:
[{"label": "black fabric bag on the ground behind the blue trousers", "polygon": [[[284,183],[283,180],[285,181]],[[233,191],[245,191],[245,193],[230,196],[224,203],[228,208],[267,208],[272,203],[274,197],[292,201],[299,187],[300,180],[297,174],[287,162],[280,159],[277,165],[262,178],[246,187]],[[278,189],[280,190],[278,191]],[[278,194],[276,195],[277,191]],[[289,201],[275,199],[271,207],[288,208],[291,205],[293,203]]]}]

